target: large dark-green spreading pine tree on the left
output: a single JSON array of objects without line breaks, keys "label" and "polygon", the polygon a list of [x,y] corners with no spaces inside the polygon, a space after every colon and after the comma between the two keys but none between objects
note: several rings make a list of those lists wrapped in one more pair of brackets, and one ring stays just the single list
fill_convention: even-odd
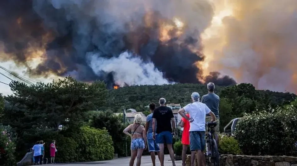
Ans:
[{"label": "large dark-green spreading pine tree on the left", "polygon": [[31,143],[44,139],[45,135],[53,137],[59,125],[80,127],[83,113],[104,106],[107,96],[103,82],[88,84],[71,77],[30,86],[12,81],[9,86],[13,95],[5,97],[9,104],[2,122],[21,138],[17,151],[30,148]]}]

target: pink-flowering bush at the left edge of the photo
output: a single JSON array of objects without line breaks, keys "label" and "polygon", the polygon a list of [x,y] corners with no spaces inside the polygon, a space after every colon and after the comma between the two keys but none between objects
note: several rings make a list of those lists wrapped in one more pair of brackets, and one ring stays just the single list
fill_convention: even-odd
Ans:
[{"label": "pink-flowering bush at the left edge of the photo", "polygon": [[11,142],[6,131],[0,133],[0,165],[15,165],[15,144]]}]

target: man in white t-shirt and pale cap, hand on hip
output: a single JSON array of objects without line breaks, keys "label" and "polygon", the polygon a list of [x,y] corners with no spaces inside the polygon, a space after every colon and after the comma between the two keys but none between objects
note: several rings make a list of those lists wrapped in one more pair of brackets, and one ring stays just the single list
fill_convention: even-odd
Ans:
[{"label": "man in white t-shirt and pale cap, hand on hip", "polygon": [[[191,95],[192,103],[178,110],[178,113],[190,122],[190,150],[191,150],[191,165],[194,165],[195,153],[197,152],[198,166],[205,164],[205,156],[203,151],[205,148],[205,117],[209,114],[212,118],[210,122],[216,120],[216,116],[204,104],[199,102],[199,93],[193,92]],[[190,117],[187,117],[187,112]],[[184,165],[183,165],[184,166]]]}]

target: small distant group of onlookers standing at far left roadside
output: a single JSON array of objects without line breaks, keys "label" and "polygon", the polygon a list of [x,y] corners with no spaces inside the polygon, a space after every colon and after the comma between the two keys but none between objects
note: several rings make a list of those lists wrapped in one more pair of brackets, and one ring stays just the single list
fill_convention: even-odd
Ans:
[{"label": "small distant group of onlookers standing at far left roadside", "polygon": [[[49,153],[50,153],[50,162],[54,164],[55,163],[55,154],[58,151],[57,147],[56,147],[56,141],[53,140],[52,143],[49,146]],[[32,152],[33,152],[33,162],[34,165],[40,165],[43,163],[48,163],[48,159],[46,159],[46,162],[44,162],[45,158],[44,158],[44,145],[45,143],[43,143],[43,141],[37,141],[36,144],[33,146],[32,148]]]}]

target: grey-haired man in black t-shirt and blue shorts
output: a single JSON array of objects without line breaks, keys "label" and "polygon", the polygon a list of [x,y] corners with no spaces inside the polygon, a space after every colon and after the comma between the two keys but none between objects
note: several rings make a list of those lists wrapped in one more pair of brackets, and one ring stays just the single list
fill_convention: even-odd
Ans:
[{"label": "grey-haired man in black t-shirt and blue shorts", "polygon": [[[175,166],[174,152],[172,149],[172,137],[174,135],[173,131],[175,131],[175,122],[174,122],[174,116],[171,108],[169,108],[168,106],[165,106],[165,103],[166,103],[166,100],[164,98],[160,98],[159,99],[160,107],[154,110],[153,125],[152,125],[153,138],[156,140],[156,143],[159,143],[161,166],[164,166],[164,143],[167,144],[172,165]],[[156,133],[154,133],[156,122],[157,122],[157,130],[156,130]]]}]

